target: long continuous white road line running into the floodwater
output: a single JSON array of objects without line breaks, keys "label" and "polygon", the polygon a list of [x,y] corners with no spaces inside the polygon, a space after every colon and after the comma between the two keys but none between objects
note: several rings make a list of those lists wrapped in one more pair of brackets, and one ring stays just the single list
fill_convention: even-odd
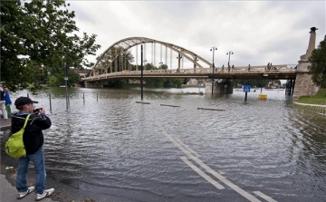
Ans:
[{"label": "long continuous white road line running into the floodwater", "polygon": [[[193,159],[195,162],[197,162],[197,164],[199,166],[201,166],[202,168],[205,168],[207,172],[211,173],[213,176],[215,176],[220,181],[222,181],[223,183],[225,183],[225,185],[227,185],[229,188],[234,189],[237,193],[239,193],[241,196],[247,198],[251,202],[262,202],[261,200],[255,198],[253,195],[247,193],[244,189],[239,188],[234,183],[232,183],[231,181],[229,181],[228,179],[226,179],[225,177],[223,177],[222,175],[220,175],[219,173],[217,173],[214,169],[209,168],[203,161],[201,161],[200,159],[198,159],[197,157],[195,157],[194,155],[192,155],[190,151],[188,151],[187,149],[185,149],[184,147],[182,147],[182,145],[179,144],[176,139],[172,138],[172,136],[170,136],[168,134],[168,132],[161,127],[161,125],[159,125],[159,126],[160,126],[161,130],[163,131],[164,135],[168,139],[170,139],[180,150],[182,150],[187,155],[188,158]],[[181,141],[181,140],[179,140],[179,141]]]}]

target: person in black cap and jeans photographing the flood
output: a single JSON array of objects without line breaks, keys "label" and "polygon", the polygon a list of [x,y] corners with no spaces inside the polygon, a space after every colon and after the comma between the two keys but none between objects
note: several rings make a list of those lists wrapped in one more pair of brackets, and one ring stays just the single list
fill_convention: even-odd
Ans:
[{"label": "person in black cap and jeans photographing the flood", "polygon": [[[19,159],[18,172],[16,175],[16,188],[18,190],[17,198],[23,198],[36,189],[35,200],[42,200],[53,194],[54,188],[45,189],[45,163],[43,155],[43,132],[42,130],[49,129],[52,122],[49,117],[45,115],[44,108],[40,108],[38,112],[34,110],[34,103],[28,97],[20,97],[14,101],[14,105],[19,112],[14,113],[12,117],[11,132],[21,130],[24,126],[24,121],[28,115],[26,127],[24,129],[23,141],[26,149],[26,156]],[[36,179],[35,187],[27,187],[26,174],[30,162],[33,162]]]}]

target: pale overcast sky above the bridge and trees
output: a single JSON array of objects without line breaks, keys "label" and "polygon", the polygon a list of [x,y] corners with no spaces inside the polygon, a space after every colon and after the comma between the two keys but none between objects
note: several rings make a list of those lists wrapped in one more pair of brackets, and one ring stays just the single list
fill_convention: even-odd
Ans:
[{"label": "pale overcast sky above the bridge and trees", "polygon": [[[228,51],[234,52],[230,64],[235,66],[297,64],[308,48],[310,28],[319,28],[316,47],[326,34],[326,1],[74,0],[67,3],[75,11],[80,31],[97,34],[97,43],[101,44],[97,55],[121,39],[140,36],[176,44],[210,63],[213,60],[210,48],[216,46],[216,66],[227,64]],[[159,57],[158,52],[159,48]],[[150,55],[150,51],[147,53]],[[174,53],[173,58],[176,56]],[[95,57],[88,59],[96,62]]]}]

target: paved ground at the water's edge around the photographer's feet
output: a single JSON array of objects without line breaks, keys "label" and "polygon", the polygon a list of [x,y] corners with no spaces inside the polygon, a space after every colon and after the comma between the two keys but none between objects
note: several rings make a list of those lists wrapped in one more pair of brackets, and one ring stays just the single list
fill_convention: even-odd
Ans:
[{"label": "paved ground at the water's edge around the photographer's feet", "polygon": [[[5,122],[5,124],[3,124]],[[1,201],[16,202],[17,190],[15,188],[15,177],[17,173],[18,160],[13,159],[5,154],[5,141],[8,139],[11,121],[1,120],[1,164],[0,164],[0,185]],[[5,129],[5,130],[4,130]],[[46,149],[46,148],[45,148]],[[49,159],[45,156],[45,162]],[[43,202],[130,202],[129,199],[121,198],[117,196],[97,194],[94,192],[87,192],[85,190],[74,188],[70,185],[66,185],[62,181],[58,181],[57,177],[53,175],[50,169],[47,169],[46,188],[55,188],[55,192],[51,197],[46,197]],[[29,186],[34,186],[35,171],[33,166],[29,169],[26,175],[27,183]],[[19,199],[20,202],[34,201],[35,193],[31,193],[26,197]],[[92,198],[96,198],[92,199]],[[99,198],[104,198],[103,200]],[[110,199],[108,199],[110,198]]]}]

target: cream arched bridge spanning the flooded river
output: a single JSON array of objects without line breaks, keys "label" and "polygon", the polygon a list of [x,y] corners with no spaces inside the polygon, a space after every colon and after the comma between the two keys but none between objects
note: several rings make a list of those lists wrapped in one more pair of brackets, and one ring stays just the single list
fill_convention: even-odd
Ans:
[{"label": "cream arched bridge spanning the flooded river", "polygon": [[[147,57],[149,55],[147,54],[147,45],[151,46],[150,64],[153,67],[151,70],[143,71],[144,78],[295,80],[298,73],[307,73],[306,71],[297,71],[294,68],[295,64],[277,64],[268,69],[266,65],[256,65],[250,68],[248,66],[236,66],[235,68],[215,67],[213,72],[212,63],[183,47],[145,37],[130,37],[110,45],[92,67],[90,76],[82,78],[82,82],[139,79],[141,74],[139,45],[141,44],[143,45],[143,62],[145,66],[148,63]],[[160,50],[159,56],[157,55],[157,49]],[[132,52],[135,53],[135,56]],[[165,52],[164,63],[163,52]],[[172,58],[175,58],[172,56],[173,53],[177,53],[177,68],[174,69],[172,68]],[[159,59],[159,65],[165,64],[168,67],[169,63],[169,68],[160,69],[160,66],[157,68],[157,59]],[[187,67],[184,67],[185,60]],[[131,64],[132,62],[135,62],[135,64]]]}]

